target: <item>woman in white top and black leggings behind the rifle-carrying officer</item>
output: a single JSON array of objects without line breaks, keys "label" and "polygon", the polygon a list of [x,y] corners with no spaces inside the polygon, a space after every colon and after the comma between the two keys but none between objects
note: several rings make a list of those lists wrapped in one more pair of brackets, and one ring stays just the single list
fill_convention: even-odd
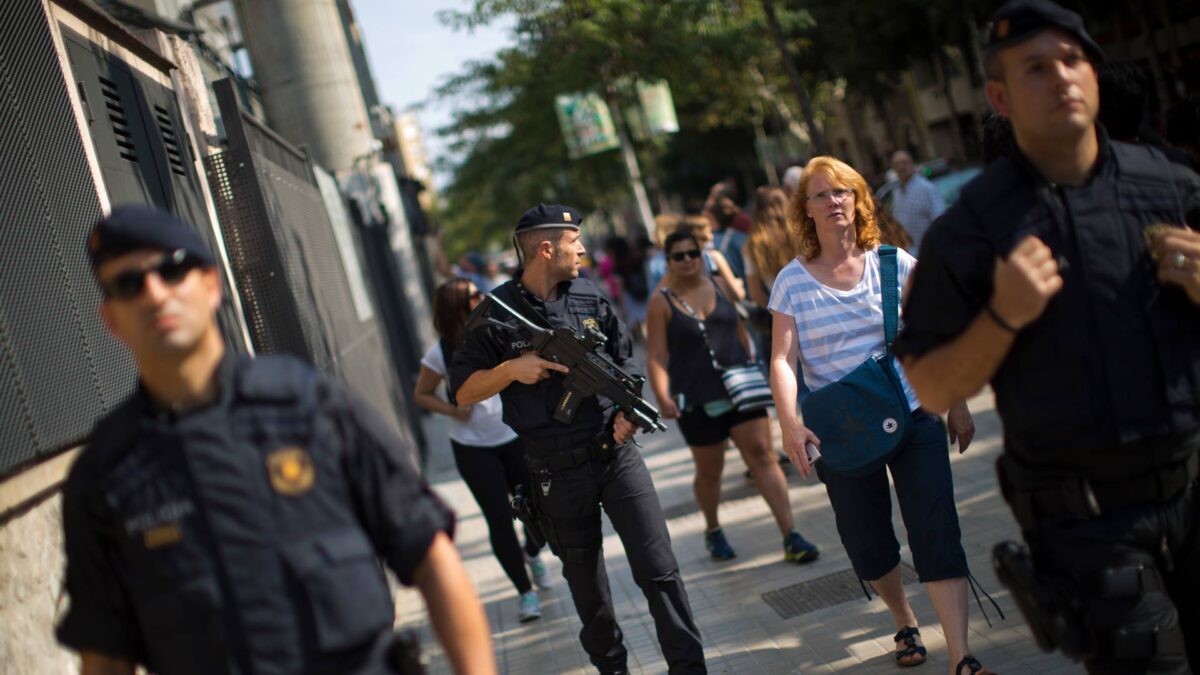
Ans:
[{"label": "woman in white top and black leggings behind the rifle-carrying officer", "polygon": [[458,406],[437,395],[446,378],[446,364],[454,363],[454,352],[462,346],[467,316],[482,298],[484,294],[468,279],[451,279],[434,291],[433,328],[440,340],[421,357],[413,400],[430,412],[450,418],[449,436],[455,466],[487,521],[492,554],[516,587],[517,619],[527,622],[541,619],[541,603],[538,591],[533,589],[534,583],[542,590],[552,584],[538,545],[527,533],[522,546],[512,527],[509,497],[516,492],[517,485],[529,480],[521,441],[502,419],[499,396],[473,406]]}]

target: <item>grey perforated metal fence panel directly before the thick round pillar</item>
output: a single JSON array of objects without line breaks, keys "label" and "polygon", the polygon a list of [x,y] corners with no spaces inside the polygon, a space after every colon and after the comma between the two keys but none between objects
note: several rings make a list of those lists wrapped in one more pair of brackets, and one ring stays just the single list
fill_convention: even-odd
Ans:
[{"label": "grey perforated metal fence panel directly before the thick round pillar", "polygon": [[304,153],[246,117],[229,80],[216,92],[228,150],[205,167],[256,351],[334,372],[407,432],[379,307],[359,318],[326,210],[344,204],[323,201]]}]

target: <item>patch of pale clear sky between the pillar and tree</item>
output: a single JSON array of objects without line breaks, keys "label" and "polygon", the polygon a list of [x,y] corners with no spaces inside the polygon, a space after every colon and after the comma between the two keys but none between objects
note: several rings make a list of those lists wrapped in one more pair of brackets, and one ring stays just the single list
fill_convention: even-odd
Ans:
[{"label": "patch of pale clear sky between the pillar and tree", "polygon": [[[440,10],[470,8],[472,0],[350,0],[354,17],[371,60],[371,73],[384,103],[397,113],[416,103],[432,101],[433,89],[468,61],[487,59],[511,44],[512,20],[456,31],[442,25]],[[444,143],[436,136],[449,123],[446,106],[430,103],[418,112],[425,130],[430,157],[443,154]],[[439,177],[439,183],[445,177]]]}]

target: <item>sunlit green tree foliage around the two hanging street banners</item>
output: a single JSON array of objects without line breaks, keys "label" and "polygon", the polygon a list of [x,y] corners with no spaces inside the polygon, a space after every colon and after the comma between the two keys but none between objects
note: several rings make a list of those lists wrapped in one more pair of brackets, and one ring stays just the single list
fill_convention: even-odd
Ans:
[{"label": "sunlit green tree foliage around the two hanging street banners", "polygon": [[[796,12],[780,14],[792,28]],[[604,210],[628,204],[616,151],[566,157],[554,117],[559,94],[613,88],[632,103],[630,83],[666,79],[685,131],[641,144],[643,171],[688,179],[665,180],[668,189],[702,191],[755,161],[750,125],[760,92],[749,68],[787,91],[757,1],[476,0],[469,11],[442,18],[469,30],[500,16],[516,17],[516,44],[469,64],[438,91],[458,107],[440,130],[456,139],[451,150],[462,157],[445,167],[455,178],[437,214],[451,253],[506,240],[517,215],[538,201]],[[683,141],[695,153],[680,148]]]}]

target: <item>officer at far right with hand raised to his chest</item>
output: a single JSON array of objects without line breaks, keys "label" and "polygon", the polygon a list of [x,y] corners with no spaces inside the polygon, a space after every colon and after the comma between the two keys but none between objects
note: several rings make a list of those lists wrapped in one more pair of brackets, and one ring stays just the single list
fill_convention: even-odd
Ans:
[{"label": "officer at far right with hand raised to his chest", "polygon": [[1093,673],[1188,673],[1200,177],[1108,138],[1103,56],[1046,0],[992,17],[986,92],[1015,148],[930,229],[896,352],[929,410],[995,390],[1000,483],[1030,546],[997,546],[997,572],[1038,643]]}]

